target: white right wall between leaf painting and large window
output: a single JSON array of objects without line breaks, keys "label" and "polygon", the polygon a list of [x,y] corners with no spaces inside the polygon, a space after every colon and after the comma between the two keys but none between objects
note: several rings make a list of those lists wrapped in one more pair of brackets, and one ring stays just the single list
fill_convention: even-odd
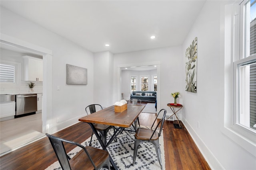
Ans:
[{"label": "white right wall between leaf painting and large window", "polygon": [[[184,56],[186,48],[198,37],[197,93],[186,92],[184,88],[181,90],[184,98],[183,118],[189,133],[212,169],[255,170],[255,156],[221,131],[225,114],[225,53],[222,50],[225,3],[232,1],[206,1],[182,46]],[[182,57],[182,75],[185,75],[184,63],[185,57]],[[182,82],[185,82],[184,76]]]}]

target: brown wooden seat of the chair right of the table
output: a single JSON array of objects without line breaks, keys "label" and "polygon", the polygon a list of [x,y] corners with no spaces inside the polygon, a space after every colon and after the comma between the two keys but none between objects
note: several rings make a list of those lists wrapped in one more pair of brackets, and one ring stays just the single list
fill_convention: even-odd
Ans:
[{"label": "brown wooden seat of the chair right of the table", "polygon": [[[151,129],[139,127],[136,131],[135,138],[147,141],[150,139],[150,137],[153,133],[154,133],[154,131],[152,131]],[[151,140],[157,140],[158,138],[159,138],[158,133],[155,132]]]}]

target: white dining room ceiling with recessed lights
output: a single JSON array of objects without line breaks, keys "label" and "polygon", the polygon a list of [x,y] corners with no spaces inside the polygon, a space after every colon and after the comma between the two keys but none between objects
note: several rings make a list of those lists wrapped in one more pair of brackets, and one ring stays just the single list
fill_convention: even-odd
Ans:
[{"label": "white dining room ceiling with recessed lights", "polygon": [[[181,45],[205,0],[0,3],[94,53],[125,53]],[[156,38],[150,39],[151,35]]]}]

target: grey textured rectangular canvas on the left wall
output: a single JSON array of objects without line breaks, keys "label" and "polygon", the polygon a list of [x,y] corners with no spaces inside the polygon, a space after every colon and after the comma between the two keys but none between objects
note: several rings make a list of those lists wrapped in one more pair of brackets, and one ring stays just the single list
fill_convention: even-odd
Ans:
[{"label": "grey textured rectangular canvas on the left wall", "polygon": [[87,68],[67,64],[67,84],[87,84]]}]

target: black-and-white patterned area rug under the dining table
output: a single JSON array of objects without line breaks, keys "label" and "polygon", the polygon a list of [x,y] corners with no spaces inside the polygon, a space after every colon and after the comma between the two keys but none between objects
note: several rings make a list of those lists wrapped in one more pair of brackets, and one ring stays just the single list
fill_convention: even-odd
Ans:
[{"label": "black-and-white patterned area rug under the dining table", "polygon": [[[112,129],[108,132],[111,135],[113,134]],[[108,139],[110,138],[108,134]],[[142,143],[138,148],[138,153],[136,157],[136,162],[132,166],[133,160],[133,150],[134,150],[134,135],[135,132],[123,131],[117,137],[117,142],[113,141],[108,146],[108,152],[111,155],[112,159],[116,163],[116,166],[119,170],[160,170],[160,164],[156,156],[156,149],[150,143]],[[163,133],[160,136],[160,149],[161,149],[161,158],[163,169],[165,170],[165,160],[164,160],[164,139]],[[82,143],[83,146],[88,146],[90,143],[90,138]],[[95,135],[92,138],[92,147],[100,148],[102,147],[98,144],[98,139]],[[79,147],[71,150],[68,155],[72,158],[77,152],[80,151]],[[103,168],[105,169],[105,168]],[[59,162],[54,162],[46,170],[61,170]]]}]

